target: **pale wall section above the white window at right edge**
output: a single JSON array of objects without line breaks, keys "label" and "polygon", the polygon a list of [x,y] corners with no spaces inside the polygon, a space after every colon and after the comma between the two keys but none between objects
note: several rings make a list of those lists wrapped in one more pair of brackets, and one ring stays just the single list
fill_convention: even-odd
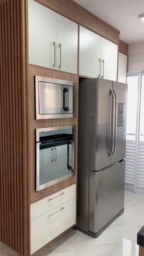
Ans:
[{"label": "pale wall section above the white window at right edge", "polygon": [[144,43],[132,43],[129,45],[128,71],[144,70]]}]

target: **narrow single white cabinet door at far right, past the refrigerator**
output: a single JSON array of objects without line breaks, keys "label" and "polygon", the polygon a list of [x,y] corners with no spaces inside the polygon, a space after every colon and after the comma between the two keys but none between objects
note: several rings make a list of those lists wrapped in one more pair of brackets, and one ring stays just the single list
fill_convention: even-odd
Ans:
[{"label": "narrow single white cabinet door at far right, past the refrigerator", "polygon": [[127,74],[127,56],[123,53],[118,53],[118,82],[126,83]]}]

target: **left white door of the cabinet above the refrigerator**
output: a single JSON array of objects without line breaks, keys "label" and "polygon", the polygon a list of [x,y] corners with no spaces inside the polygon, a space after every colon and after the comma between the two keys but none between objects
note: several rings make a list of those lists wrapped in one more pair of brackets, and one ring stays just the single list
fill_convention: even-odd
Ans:
[{"label": "left white door of the cabinet above the refrigerator", "polygon": [[101,65],[101,37],[80,26],[79,74],[98,78]]}]

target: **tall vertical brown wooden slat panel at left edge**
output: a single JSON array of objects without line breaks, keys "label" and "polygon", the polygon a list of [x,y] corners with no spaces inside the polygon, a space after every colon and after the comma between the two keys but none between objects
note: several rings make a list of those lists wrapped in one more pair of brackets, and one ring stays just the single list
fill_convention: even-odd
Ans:
[{"label": "tall vertical brown wooden slat panel at left edge", "polygon": [[0,1],[0,240],[30,255],[26,0]]}]

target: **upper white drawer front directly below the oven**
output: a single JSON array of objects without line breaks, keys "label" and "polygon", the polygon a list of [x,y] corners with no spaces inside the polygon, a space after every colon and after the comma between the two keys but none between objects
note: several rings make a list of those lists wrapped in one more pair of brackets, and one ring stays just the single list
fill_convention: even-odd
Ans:
[{"label": "upper white drawer front directly below the oven", "polygon": [[31,221],[76,197],[76,184],[31,204]]}]

